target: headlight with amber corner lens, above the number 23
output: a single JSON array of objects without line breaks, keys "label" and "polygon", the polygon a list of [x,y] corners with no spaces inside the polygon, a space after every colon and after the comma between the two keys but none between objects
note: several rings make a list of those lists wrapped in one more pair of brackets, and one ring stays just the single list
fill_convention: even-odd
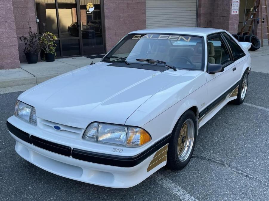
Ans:
[{"label": "headlight with amber corner lens, above the number 23", "polygon": [[143,128],[94,122],[85,130],[83,139],[126,147],[139,147],[151,141],[151,136]]}]

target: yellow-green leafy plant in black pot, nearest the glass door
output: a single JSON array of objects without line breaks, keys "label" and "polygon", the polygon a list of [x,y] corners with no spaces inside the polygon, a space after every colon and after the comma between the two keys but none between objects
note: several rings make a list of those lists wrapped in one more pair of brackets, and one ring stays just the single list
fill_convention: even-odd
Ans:
[{"label": "yellow-green leafy plant in black pot, nearest the glass door", "polygon": [[44,51],[44,59],[46,62],[53,62],[55,60],[55,40],[58,38],[51,32],[45,32],[41,34],[39,43],[41,44],[42,50]]}]

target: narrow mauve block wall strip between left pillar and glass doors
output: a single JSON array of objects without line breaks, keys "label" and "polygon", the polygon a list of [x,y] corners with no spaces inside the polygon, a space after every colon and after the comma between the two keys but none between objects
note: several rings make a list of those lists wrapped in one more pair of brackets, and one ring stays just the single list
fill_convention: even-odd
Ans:
[{"label": "narrow mauve block wall strip between left pillar and glass doors", "polygon": [[32,28],[33,32],[37,32],[34,0],[13,0],[13,12],[15,16],[19,58],[21,62],[26,62],[23,53],[24,43],[21,42],[19,37],[28,35],[29,26]]}]

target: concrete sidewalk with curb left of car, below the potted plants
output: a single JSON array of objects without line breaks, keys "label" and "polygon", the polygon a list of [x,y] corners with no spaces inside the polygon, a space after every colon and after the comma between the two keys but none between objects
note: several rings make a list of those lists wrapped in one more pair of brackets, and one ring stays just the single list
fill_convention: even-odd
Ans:
[{"label": "concrete sidewalk with curb left of car, below the potted plants", "polygon": [[81,56],[55,59],[54,62],[21,63],[20,68],[0,70],[0,94],[24,91],[50,78],[100,60],[101,58],[89,59]]}]

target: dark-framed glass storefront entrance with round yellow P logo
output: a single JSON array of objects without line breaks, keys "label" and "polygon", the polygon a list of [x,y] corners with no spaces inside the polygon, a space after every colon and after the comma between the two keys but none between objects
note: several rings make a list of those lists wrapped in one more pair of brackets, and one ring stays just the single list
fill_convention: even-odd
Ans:
[{"label": "dark-framed glass storefront entrance with round yellow P logo", "polygon": [[56,56],[104,54],[103,1],[35,0],[38,31],[58,37]]}]

